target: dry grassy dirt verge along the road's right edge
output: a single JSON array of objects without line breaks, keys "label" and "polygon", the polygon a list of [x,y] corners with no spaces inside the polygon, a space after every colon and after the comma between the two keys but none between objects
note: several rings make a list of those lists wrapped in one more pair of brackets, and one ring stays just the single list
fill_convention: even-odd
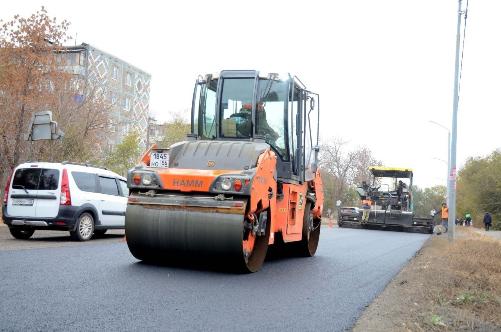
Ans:
[{"label": "dry grassy dirt verge along the road's right edge", "polygon": [[354,331],[500,331],[501,241],[459,229],[433,236]]}]

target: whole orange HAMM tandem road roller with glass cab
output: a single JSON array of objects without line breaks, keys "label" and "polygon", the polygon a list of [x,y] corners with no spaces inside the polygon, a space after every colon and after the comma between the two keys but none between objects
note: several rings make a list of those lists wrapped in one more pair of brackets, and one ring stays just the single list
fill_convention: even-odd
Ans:
[{"label": "whole orange HAMM tandem road roller with glass cab", "polygon": [[313,256],[323,190],[319,96],[295,76],[222,71],[195,84],[191,133],[128,174],[127,244],[140,260],[257,271],[269,245]]}]

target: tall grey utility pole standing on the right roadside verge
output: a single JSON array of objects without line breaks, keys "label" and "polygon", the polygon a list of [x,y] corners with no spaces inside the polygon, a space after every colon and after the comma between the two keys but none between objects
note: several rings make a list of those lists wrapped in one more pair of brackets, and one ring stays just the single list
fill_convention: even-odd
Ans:
[{"label": "tall grey utility pole standing on the right roadside verge", "polygon": [[459,104],[459,47],[461,44],[461,16],[463,12],[461,11],[461,2],[458,0],[458,22],[456,31],[456,62],[454,68],[454,99],[452,101],[452,135],[450,144],[450,166],[449,166],[449,231],[448,238],[449,241],[453,241],[455,237],[455,225],[456,225],[456,141],[457,141],[457,116],[458,116],[458,104]]}]

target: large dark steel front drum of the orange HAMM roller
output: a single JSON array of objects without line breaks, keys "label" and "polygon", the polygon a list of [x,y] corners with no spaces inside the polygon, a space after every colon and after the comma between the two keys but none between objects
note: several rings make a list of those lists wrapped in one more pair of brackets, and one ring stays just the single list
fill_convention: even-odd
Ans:
[{"label": "large dark steel front drum of the orange HAMM roller", "polygon": [[139,260],[255,272],[266,257],[269,225],[265,234],[258,235],[247,224],[244,210],[129,204],[125,235],[130,252]]}]

